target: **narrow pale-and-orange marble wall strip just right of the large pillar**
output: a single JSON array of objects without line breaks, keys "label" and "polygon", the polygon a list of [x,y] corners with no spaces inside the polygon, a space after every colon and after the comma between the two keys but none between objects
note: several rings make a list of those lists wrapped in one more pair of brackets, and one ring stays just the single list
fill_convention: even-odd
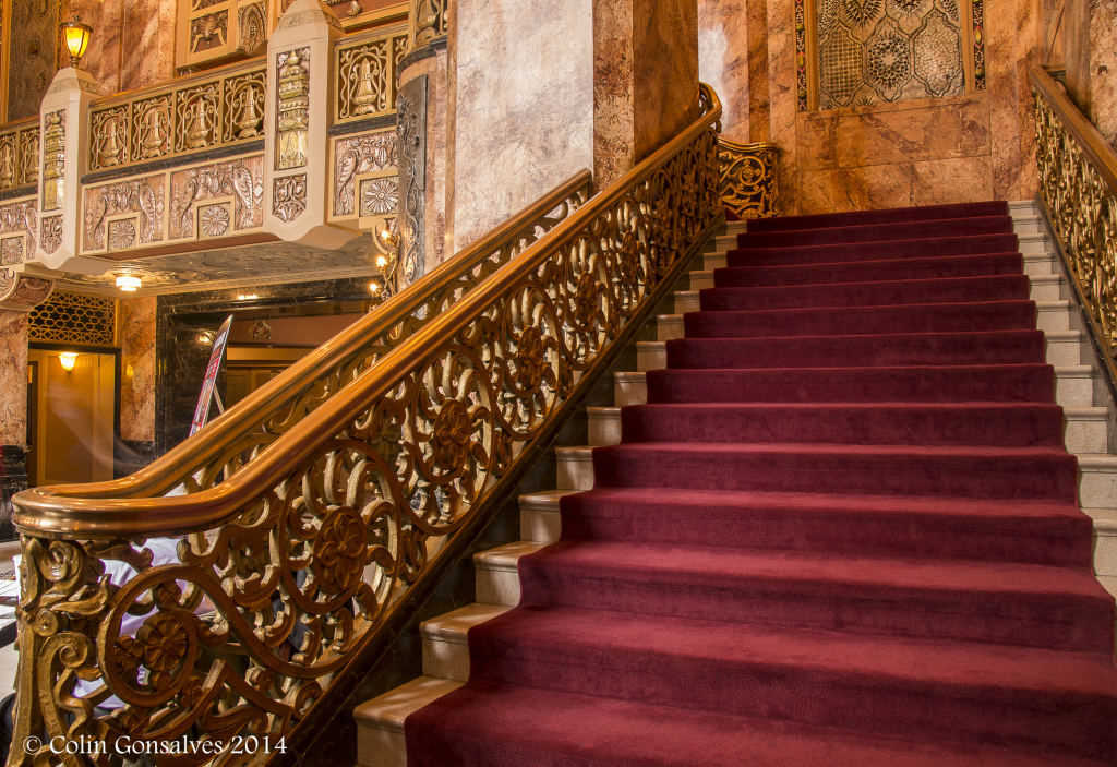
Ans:
[{"label": "narrow pale-and-orange marble wall strip just right of the large pillar", "polygon": [[[753,0],[754,3],[764,1]],[[767,17],[766,11],[764,16]],[[767,29],[763,31],[766,37]],[[751,116],[753,67],[750,66],[748,42],[747,0],[698,0],[698,75],[722,98],[722,136],[738,143],[750,141],[752,122],[770,119],[768,115]],[[767,56],[754,64],[766,92]]]}]

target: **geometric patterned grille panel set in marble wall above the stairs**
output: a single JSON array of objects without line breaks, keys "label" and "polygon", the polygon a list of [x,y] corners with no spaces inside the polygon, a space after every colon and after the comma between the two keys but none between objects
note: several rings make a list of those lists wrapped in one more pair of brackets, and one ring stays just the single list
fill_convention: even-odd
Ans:
[{"label": "geometric patterned grille panel set in marble wall above the stairs", "polygon": [[819,108],[965,93],[957,0],[821,0]]}]

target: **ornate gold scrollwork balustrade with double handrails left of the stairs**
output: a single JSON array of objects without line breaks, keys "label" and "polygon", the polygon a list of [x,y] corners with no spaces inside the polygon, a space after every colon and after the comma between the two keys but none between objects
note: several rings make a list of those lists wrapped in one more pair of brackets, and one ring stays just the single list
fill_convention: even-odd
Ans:
[{"label": "ornate gold scrollwork balustrade with double handrails left of the stairs", "polygon": [[[510,489],[720,221],[720,104],[703,94],[694,125],[518,257],[488,274],[493,240],[470,250],[459,277],[474,287],[448,310],[430,297],[448,272],[432,272],[413,286],[421,296],[400,294],[408,310],[391,323],[373,316],[328,342],[134,478],[20,493],[9,763],[30,764],[25,738],[39,734],[228,745],[293,732]],[[314,394],[322,385],[332,396]],[[281,435],[250,437],[271,420],[287,424]],[[255,460],[226,468],[246,451]],[[144,539],[178,535],[176,560],[151,566]],[[102,576],[120,563],[139,572]],[[142,621],[134,635],[130,615]],[[175,764],[213,759],[198,752]]]}]

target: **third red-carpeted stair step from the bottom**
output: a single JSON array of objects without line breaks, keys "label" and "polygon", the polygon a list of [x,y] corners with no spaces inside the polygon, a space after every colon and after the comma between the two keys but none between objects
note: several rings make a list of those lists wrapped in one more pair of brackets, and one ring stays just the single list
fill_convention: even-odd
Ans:
[{"label": "third red-carpeted stair step from the bottom", "polygon": [[518,568],[521,604],[1113,654],[1087,568],[600,540]]}]

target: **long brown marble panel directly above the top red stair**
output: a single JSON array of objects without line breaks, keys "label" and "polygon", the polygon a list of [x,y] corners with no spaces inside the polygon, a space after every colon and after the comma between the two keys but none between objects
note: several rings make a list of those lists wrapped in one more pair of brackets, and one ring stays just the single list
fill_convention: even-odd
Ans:
[{"label": "long brown marble panel directly above the top red stair", "polygon": [[989,156],[956,157],[821,171],[804,167],[799,192],[801,214],[832,213],[992,200],[993,180]]}]

